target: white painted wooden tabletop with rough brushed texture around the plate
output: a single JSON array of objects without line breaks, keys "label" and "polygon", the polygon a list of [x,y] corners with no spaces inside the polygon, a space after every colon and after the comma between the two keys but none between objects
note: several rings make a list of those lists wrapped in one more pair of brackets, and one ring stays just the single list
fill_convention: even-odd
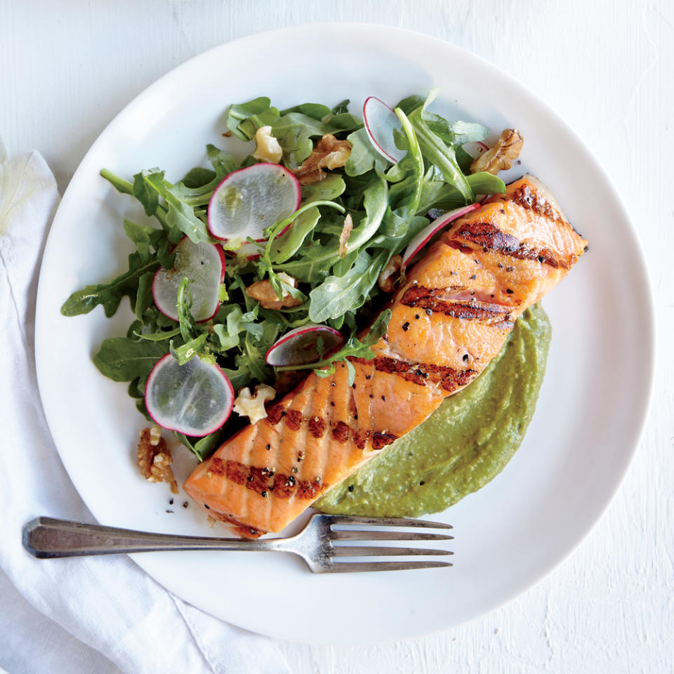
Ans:
[{"label": "white painted wooden tabletop with rough brushed texture around the plate", "polygon": [[[0,0],[0,136],[9,154],[40,150],[62,191],[114,114],[161,74],[232,38],[316,21],[386,23],[447,39],[522,80],[569,121],[609,169],[640,232],[656,294],[659,364],[626,481],[546,580],[487,616],[422,639],[371,647],[279,642],[291,670],[673,671],[671,0]],[[329,77],[336,55],[308,58],[323,58]],[[625,307],[616,330],[628,320]]]}]

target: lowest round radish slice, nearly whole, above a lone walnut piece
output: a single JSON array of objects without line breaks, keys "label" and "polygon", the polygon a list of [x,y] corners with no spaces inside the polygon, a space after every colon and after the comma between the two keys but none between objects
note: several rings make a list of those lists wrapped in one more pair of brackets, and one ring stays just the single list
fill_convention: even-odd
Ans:
[{"label": "lowest round radish slice, nearly whole, above a lone walnut piece", "polygon": [[145,385],[145,407],[160,426],[203,437],[220,428],[232,413],[234,388],[216,365],[198,356],[184,365],[167,353]]}]

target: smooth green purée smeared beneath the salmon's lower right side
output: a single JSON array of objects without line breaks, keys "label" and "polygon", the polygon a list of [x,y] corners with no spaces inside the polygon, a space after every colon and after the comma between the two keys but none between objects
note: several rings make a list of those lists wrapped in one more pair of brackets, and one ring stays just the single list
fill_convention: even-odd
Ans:
[{"label": "smooth green pur\u00e9e smeared beneath the salmon's lower right side", "polygon": [[534,305],[501,353],[421,425],[314,503],[324,513],[437,513],[493,480],[520,447],[546,371],[550,323]]}]

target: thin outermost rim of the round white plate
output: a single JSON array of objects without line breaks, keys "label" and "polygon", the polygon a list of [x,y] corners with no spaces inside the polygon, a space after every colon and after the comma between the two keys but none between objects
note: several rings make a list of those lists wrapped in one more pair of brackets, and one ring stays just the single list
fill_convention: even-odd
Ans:
[{"label": "thin outermost rim of the round white plate", "polygon": [[[645,315],[648,317],[648,323],[647,323],[647,329],[645,329],[644,332],[644,349],[642,350],[642,357],[647,356],[645,360],[645,366],[643,366],[642,370],[645,371],[644,375],[644,383],[645,383],[645,395],[640,398],[640,404],[639,404],[639,409],[638,409],[638,416],[635,416],[635,419],[638,419],[638,424],[635,425],[633,428],[633,439],[630,441],[630,452],[628,455],[625,457],[625,463],[623,465],[623,469],[621,470],[621,473],[618,477],[616,477],[616,480],[614,484],[612,484],[610,488],[610,493],[608,494],[607,498],[605,499],[603,505],[601,508],[597,509],[596,513],[593,513],[593,517],[591,518],[590,522],[585,524],[583,527],[579,527],[579,532],[576,533],[576,536],[574,536],[574,542],[571,544],[571,546],[565,551],[563,555],[558,556],[553,560],[553,562],[550,562],[547,565],[544,565],[541,569],[538,570],[538,573],[531,574],[527,577],[527,580],[520,583],[520,584],[515,584],[515,587],[508,591],[502,599],[496,603],[491,604],[490,607],[484,609],[481,612],[476,612],[472,616],[458,622],[454,622],[451,624],[442,624],[440,626],[437,626],[434,630],[431,632],[428,632],[428,630],[422,630],[418,631],[416,633],[410,634],[409,637],[417,637],[421,635],[425,635],[428,633],[435,633],[440,630],[444,630],[450,627],[455,627],[458,624],[465,623],[468,621],[473,621],[480,616],[484,616],[488,613],[493,612],[494,610],[498,609],[499,607],[502,607],[503,605],[507,604],[508,602],[512,601],[515,597],[521,595],[526,591],[527,589],[533,587],[537,583],[541,582],[546,576],[550,575],[555,569],[560,567],[560,565],[567,560],[572,553],[574,553],[579,546],[585,541],[587,536],[595,529],[597,524],[602,520],[602,517],[606,513],[607,509],[609,506],[613,503],[614,499],[616,498],[616,495],[619,492],[619,489],[621,485],[623,484],[625,477],[628,473],[628,470],[630,469],[630,466],[632,465],[633,461],[635,460],[635,456],[637,454],[637,449],[639,448],[640,444],[642,443],[642,438],[645,432],[646,428],[646,422],[647,418],[649,415],[649,409],[651,407],[652,403],[652,398],[654,395],[654,383],[655,383],[655,367],[656,367],[656,354],[657,354],[657,337],[656,337],[656,314],[654,311],[655,303],[654,303],[654,291],[653,291],[653,285],[652,285],[652,279],[651,279],[651,272],[649,271],[649,267],[647,265],[647,258],[645,256],[645,250],[642,244],[642,241],[639,237],[639,234],[637,232],[637,229],[635,227],[633,218],[628,211],[626,204],[624,203],[623,199],[621,198],[621,195],[619,194],[619,191],[616,188],[616,185],[614,184],[611,176],[609,176],[609,173],[607,172],[606,169],[604,169],[604,166],[602,163],[599,161],[597,158],[596,154],[593,152],[593,150],[590,149],[588,143],[586,143],[586,140],[582,136],[577,133],[574,128],[563,118],[561,117],[560,114],[557,113],[556,110],[553,109],[548,103],[546,103],[546,100],[541,98],[538,94],[536,94],[534,91],[532,91],[527,85],[523,84],[522,81],[516,79],[513,77],[513,75],[510,75],[508,72],[503,71],[498,65],[494,65],[494,63],[490,62],[489,60],[482,58],[482,56],[477,55],[473,53],[472,51],[463,48],[461,46],[457,46],[456,44],[451,43],[450,41],[440,39],[435,36],[431,36],[428,34],[425,34],[420,31],[416,30],[410,30],[398,26],[391,26],[391,25],[385,25],[385,24],[377,24],[377,23],[369,23],[369,22],[303,22],[300,24],[296,25],[288,25],[284,27],[278,27],[274,29],[268,29],[262,32],[253,32],[250,34],[246,34],[244,36],[237,37],[236,39],[232,39],[230,41],[223,42],[222,44],[218,44],[216,46],[213,46],[209,48],[206,51],[203,51],[197,55],[194,55],[192,58],[185,60],[184,62],[180,63],[176,67],[172,68],[168,72],[164,73],[159,77],[158,79],[154,80],[149,86],[145,87],[143,91],[140,91],[136,96],[134,96],[124,107],[121,108],[121,110],[114,115],[114,117],[108,122],[108,124],[103,128],[103,130],[99,133],[98,137],[94,140],[94,142],[91,144],[91,146],[88,148],[87,152],[84,154],[84,157],[82,157],[81,161],[79,161],[79,164],[77,166],[77,169],[74,171],[72,178],[70,179],[70,182],[67,185],[67,188],[63,194],[63,197],[60,201],[60,204],[58,206],[58,209],[54,215],[53,218],[53,223],[56,223],[58,221],[58,218],[60,216],[60,213],[65,212],[67,207],[70,204],[70,198],[69,194],[73,192],[71,190],[71,186],[76,183],[77,179],[79,178],[80,173],[84,171],[84,168],[86,166],[88,157],[90,155],[95,154],[95,152],[98,150],[98,147],[100,146],[101,143],[103,143],[103,137],[107,135],[111,130],[114,129],[117,124],[119,124],[119,120],[123,119],[127,114],[130,114],[133,112],[133,109],[142,105],[143,101],[146,98],[150,98],[153,94],[154,91],[157,89],[161,89],[162,87],[166,86],[166,83],[171,81],[171,79],[174,78],[179,78],[181,72],[183,70],[190,70],[190,68],[194,67],[194,64],[199,62],[199,60],[207,60],[208,58],[211,58],[211,55],[213,53],[216,53],[220,50],[223,50],[225,48],[232,48],[232,46],[236,46],[237,44],[244,43],[246,41],[251,41],[253,39],[258,39],[259,37],[267,36],[270,37],[272,35],[283,35],[283,34],[291,34],[293,32],[299,31],[303,32],[307,29],[311,29],[312,31],[315,31],[317,29],[329,29],[329,30],[337,30],[337,31],[348,31],[348,29],[374,29],[378,31],[383,31],[383,32],[393,32],[397,34],[402,34],[402,35],[408,35],[411,37],[414,37],[416,39],[423,38],[427,42],[433,42],[436,44],[436,46],[441,47],[443,49],[449,49],[449,51],[455,51],[455,53],[461,54],[462,58],[468,58],[468,60],[473,60],[477,64],[480,65],[480,67],[487,68],[488,70],[494,71],[496,74],[498,74],[499,79],[505,83],[505,85],[512,91],[514,90],[515,92],[520,92],[524,94],[527,98],[534,100],[536,105],[541,108],[541,112],[544,112],[546,114],[546,118],[552,119],[555,124],[561,126],[566,133],[569,134],[576,143],[578,143],[579,147],[583,150],[583,152],[586,155],[586,158],[590,160],[591,168],[593,169],[593,172],[597,177],[601,178],[604,186],[607,187],[607,190],[611,194],[612,198],[615,201],[616,207],[621,211],[621,213],[624,216],[625,224],[627,226],[628,233],[630,234],[630,237],[632,239],[632,244],[635,250],[635,266],[640,268],[640,271],[642,272],[642,275],[640,277],[641,279],[641,284],[640,284],[640,294],[642,294],[643,299],[645,300]],[[51,237],[51,234],[53,232],[53,223],[52,226],[50,227],[50,230],[48,232],[48,237],[47,241],[45,244],[44,252],[42,258],[46,258],[47,253],[50,249],[50,244],[53,244],[53,239]],[[44,305],[44,296],[46,294],[45,291],[45,286],[46,286],[46,278],[45,275],[43,274],[43,265],[42,265],[42,260],[40,261],[40,273],[39,273],[39,282],[38,282],[38,290],[37,290],[37,303],[36,303],[36,319],[35,319],[35,325],[34,325],[34,343],[36,345],[35,348],[35,365],[36,365],[36,372],[37,372],[37,381],[38,381],[38,388],[39,388],[39,395],[41,398],[41,402],[44,408],[44,413],[46,417],[46,421],[48,424],[48,427],[50,429],[51,435],[54,438],[54,444],[55,447],[58,451],[60,460],[62,461],[63,465],[65,466],[65,469],[67,471],[67,474],[70,477],[70,480],[73,483],[73,487],[78,491],[76,483],[73,480],[72,473],[71,473],[71,467],[70,467],[70,462],[67,461],[64,456],[62,455],[58,445],[55,442],[55,435],[53,433],[53,423],[52,423],[52,418],[53,418],[53,411],[49,411],[48,409],[48,404],[45,404],[45,399],[46,395],[44,391],[46,390],[47,383],[45,380],[45,375],[44,375],[44,369],[41,368],[41,358],[43,357],[44,352],[37,348],[40,338],[39,334],[41,332],[41,324],[42,322],[40,321],[39,317],[41,314],[44,314],[44,312],[41,312],[41,308]],[[46,355],[44,355],[46,358]],[[84,500],[84,499],[83,499]],[[88,503],[86,504],[87,508],[89,508]],[[91,511],[91,510],[90,510]],[[93,515],[93,511],[92,515]],[[152,574],[150,571],[147,571],[145,568],[145,564],[142,562],[142,558],[139,559],[138,555],[131,555],[131,558],[147,573],[149,574],[153,579],[157,580],[157,577]],[[167,583],[164,581],[158,581],[162,586],[164,586],[167,590],[170,592],[174,592],[176,590],[173,590],[172,588],[169,588],[167,586]],[[176,591],[176,594],[179,595],[179,593]],[[206,610],[206,609],[202,609]],[[239,624],[239,623],[236,623]],[[250,626],[243,626],[246,629],[254,629],[251,628]],[[278,635],[271,635],[271,636],[278,636]],[[286,636],[280,636],[279,638],[289,638]],[[292,638],[292,637],[290,637]],[[362,641],[357,641],[357,643],[385,643],[385,642],[390,642],[392,640],[397,640],[399,638],[407,638],[407,637],[399,637],[395,636],[392,637],[390,640],[371,640],[371,639],[366,639]],[[335,644],[336,641],[330,640],[330,639],[311,639],[311,640],[298,640],[298,642],[303,642],[303,643],[316,643],[316,644]]]}]

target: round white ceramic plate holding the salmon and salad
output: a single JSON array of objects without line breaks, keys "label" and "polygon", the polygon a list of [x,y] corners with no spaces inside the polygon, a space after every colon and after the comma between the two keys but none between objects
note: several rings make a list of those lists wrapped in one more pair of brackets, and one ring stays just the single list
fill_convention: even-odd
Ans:
[{"label": "round white ceramic plate holding the salmon and salad", "polygon": [[[279,58],[279,55],[283,58]],[[319,58],[305,58],[305,55]],[[293,55],[304,55],[293,67]],[[479,86],[476,86],[479,85]],[[609,178],[571,129],[524,86],[451,44],[372,25],[305,25],[253,35],[190,60],[112,121],[74,174],[42,265],[37,366],[48,422],[82,498],[104,524],[213,534],[197,508],[169,506],[166,485],[135,465],[143,419],[123,384],[91,362],[121,336],[128,303],[109,321],[97,308],[64,318],[63,300],[126,269],[123,216],[143,221],[98,171],[122,176],[161,166],[178,180],[222,145],[232,102],[268,95],[286,107],[368,95],[395,102],[440,86],[437,109],[517,126],[527,166],[590,242],[544,302],[553,324],[536,415],[513,461],[487,487],[437,515],[455,527],[454,567],[383,574],[312,575],[286,555],[155,553],[134,560],[166,588],[260,633],[307,642],[393,640],[447,628],[531,586],[578,545],[607,506],[633,456],[653,366],[652,303],[640,244]],[[520,171],[521,172],[521,171]],[[178,477],[193,461],[178,456]],[[173,510],[167,513],[166,510]]]}]

